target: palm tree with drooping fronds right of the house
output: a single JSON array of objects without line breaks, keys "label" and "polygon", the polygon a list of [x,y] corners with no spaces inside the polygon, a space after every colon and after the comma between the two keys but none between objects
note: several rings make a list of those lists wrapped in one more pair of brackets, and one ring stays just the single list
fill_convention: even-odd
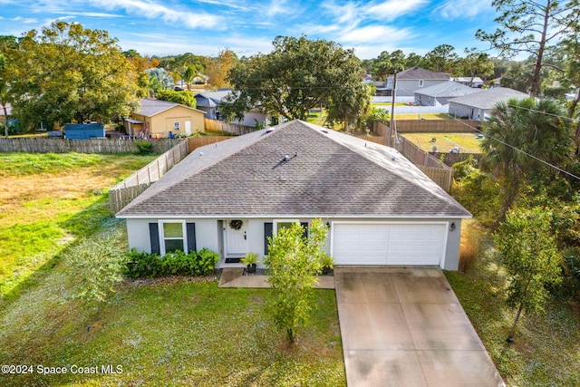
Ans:
[{"label": "palm tree with drooping fronds right of the house", "polygon": [[543,173],[542,160],[559,164],[570,158],[572,134],[564,117],[565,111],[551,100],[511,99],[496,104],[484,125],[485,155],[480,165],[493,172],[504,193],[498,224],[506,219],[530,173]]}]

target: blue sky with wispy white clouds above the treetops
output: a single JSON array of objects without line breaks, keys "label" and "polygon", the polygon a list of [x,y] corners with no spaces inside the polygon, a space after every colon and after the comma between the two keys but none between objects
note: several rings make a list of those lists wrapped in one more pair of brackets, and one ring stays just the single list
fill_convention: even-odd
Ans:
[{"label": "blue sky with wispy white clouds above the treetops", "polygon": [[424,54],[439,44],[456,53],[495,30],[491,1],[473,0],[0,0],[0,34],[20,36],[55,20],[102,29],[142,55],[269,53],[277,35],[332,40],[361,59],[401,49]]}]

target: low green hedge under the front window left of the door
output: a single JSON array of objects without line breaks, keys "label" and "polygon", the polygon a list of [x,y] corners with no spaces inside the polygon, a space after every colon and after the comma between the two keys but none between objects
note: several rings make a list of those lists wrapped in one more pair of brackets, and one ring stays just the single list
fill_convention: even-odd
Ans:
[{"label": "low green hedge under the front window left of the door", "polygon": [[134,248],[127,255],[125,275],[130,278],[159,276],[208,276],[218,264],[218,253],[203,248],[185,254],[175,251],[165,256],[138,252]]}]

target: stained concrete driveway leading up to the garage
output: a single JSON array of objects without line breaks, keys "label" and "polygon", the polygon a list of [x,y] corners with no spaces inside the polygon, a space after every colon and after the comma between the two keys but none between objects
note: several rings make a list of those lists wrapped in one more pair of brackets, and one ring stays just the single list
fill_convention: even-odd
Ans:
[{"label": "stained concrete driveway leading up to the garage", "polygon": [[439,268],[334,268],[346,380],[504,386]]}]

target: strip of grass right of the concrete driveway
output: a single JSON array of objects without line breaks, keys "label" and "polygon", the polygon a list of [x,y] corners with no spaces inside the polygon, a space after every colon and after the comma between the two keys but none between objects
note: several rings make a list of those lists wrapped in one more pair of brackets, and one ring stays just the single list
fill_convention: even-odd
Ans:
[{"label": "strip of grass right of the concrete driveway", "polygon": [[506,273],[488,237],[483,240],[478,261],[467,275],[446,276],[507,385],[580,385],[578,305],[551,298],[546,314],[523,315],[515,342],[507,343],[516,312],[505,303]]}]

